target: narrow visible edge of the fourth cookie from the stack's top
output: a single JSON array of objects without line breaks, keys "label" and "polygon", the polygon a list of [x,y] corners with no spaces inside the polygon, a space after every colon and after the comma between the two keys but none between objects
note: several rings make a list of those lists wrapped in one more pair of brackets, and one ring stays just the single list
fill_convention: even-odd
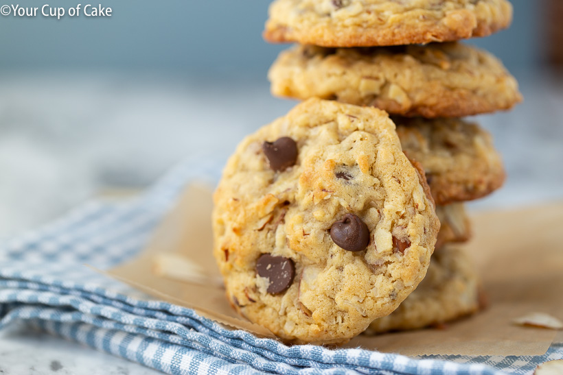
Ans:
[{"label": "narrow visible edge of the fourth cookie from the stack's top", "polygon": [[471,223],[463,203],[436,206],[436,215],[440,221],[436,248],[442,247],[446,243],[470,240]]}]

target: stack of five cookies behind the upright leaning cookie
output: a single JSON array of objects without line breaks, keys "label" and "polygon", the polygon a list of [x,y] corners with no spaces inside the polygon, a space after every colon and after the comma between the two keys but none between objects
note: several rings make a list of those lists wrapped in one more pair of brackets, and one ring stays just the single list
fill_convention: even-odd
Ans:
[{"label": "stack of five cookies behind the upright leaning cookie", "polygon": [[500,188],[505,173],[490,134],[462,117],[508,110],[521,96],[499,60],[457,40],[508,27],[512,5],[507,0],[275,0],[269,17],[266,40],[299,43],[271,67],[273,95],[389,112],[404,154],[413,164],[420,162],[435,200],[441,229],[426,278],[369,331],[421,328],[476,311],[476,271],[450,244],[470,239],[463,202]]}]

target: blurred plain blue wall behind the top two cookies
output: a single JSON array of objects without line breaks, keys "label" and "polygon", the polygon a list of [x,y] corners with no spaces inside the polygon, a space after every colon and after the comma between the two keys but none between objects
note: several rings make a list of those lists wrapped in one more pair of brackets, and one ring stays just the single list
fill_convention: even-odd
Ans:
[{"label": "blurred plain blue wall behind the top two cookies", "polygon": [[[49,3],[47,1],[47,3]],[[69,8],[80,0],[58,0]],[[512,0],[509,31],[472,43],[494,51],[509,69],[542,59],[542,0]],[[19,5],[40,6],[38,1]],[[84,7],[86,3],[82,4]],[[264,0],[120,0],[102,3],[111,17],[0,18],[0,69],[131,69],[256,73],[264,77],[283,46],[267,45],[261,34]]]}]

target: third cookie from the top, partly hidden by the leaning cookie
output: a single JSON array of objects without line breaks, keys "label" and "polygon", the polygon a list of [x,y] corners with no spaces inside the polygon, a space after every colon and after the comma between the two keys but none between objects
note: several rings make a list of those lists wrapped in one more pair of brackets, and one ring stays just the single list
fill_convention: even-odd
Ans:
[{"label": "third cookie from the top, partly hidden by the leaning cookie", "polygon": [[492,136],[462,119],[393,118],[404,152],[426,171],[437,205],[489,195],[503,186],[505,170]]}]

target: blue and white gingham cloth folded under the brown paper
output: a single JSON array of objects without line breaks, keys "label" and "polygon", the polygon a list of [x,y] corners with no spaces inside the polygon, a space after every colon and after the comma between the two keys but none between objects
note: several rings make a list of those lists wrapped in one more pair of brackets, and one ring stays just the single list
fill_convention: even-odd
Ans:
[{"label": "blue and white gingham cloth folded under the brown paper", "polygon": [[563,358],[435,356],[285,346],[226,330],[194,311],[151,300],[84,263],[108,268],[142,250],[187,182],[214,180],[217,162],[185,162],[142,197],[89,202],[38,230],[0,243],[0,328],[24,322],[168,374],[529,374]]}]

